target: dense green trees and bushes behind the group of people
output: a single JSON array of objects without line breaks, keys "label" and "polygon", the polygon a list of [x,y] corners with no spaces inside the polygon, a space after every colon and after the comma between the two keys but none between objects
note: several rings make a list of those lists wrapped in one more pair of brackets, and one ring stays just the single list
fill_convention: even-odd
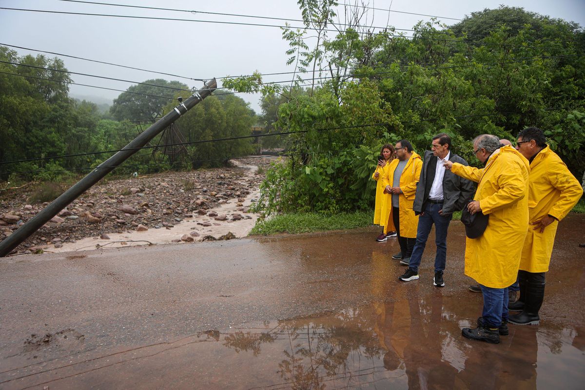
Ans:
[{"label": "dense green trees and bushes behind the group of people", "polygon": [[[299,4],[314,23],[329,15]],[[295,134],[287,141],[290,158],[267,175],[259,210],[370,208],[369,177],[381,145],[404,138],[422,153],[439,132],[478,164],[473,137],[515,140],[537,126],[570,170],[583,174],[585,39],[578,25],[501,6],[452,27],[419,22],[407,37],[391,26],[373,32],[360,22],[363,8],[348,8],[349,23],[325,36],[321,51],[298,50],[305,68],[314,58],[308,53],[318,53],[329,77],[312,94],[280,102],[274,127]],[[284,37],[300,47],[306,33]],[[314,77],[308,69],[301,74],[297,85]]]}]

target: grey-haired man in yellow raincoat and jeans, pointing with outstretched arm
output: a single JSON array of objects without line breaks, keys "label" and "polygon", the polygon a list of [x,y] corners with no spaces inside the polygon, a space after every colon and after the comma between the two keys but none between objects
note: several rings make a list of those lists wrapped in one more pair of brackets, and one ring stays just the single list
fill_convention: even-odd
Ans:
[{"label": "grey-haired man in yellow raincoat and jeans, pointing with outstretched arm", "polygon": [[528,224],[528,160],[500,139],[481,134],[473,140],[482,170],[459,163],[445,163],[454,174],[478,182],[469,212],[489,216],[486,230],[476,239],[466,238],[465,274],[475,279],[483,294],[483,313],[477,328],[463,328],[464,337],[499,343],[507,334],[508,287],[516,281],[522,244]]}]

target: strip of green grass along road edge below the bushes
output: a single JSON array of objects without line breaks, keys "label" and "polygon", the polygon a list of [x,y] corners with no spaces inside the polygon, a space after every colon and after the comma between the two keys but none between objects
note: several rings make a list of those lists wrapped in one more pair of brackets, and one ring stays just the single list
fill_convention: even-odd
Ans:
[{"label": "strip of green grass along road edge below the bushes", "polygon": [[372,225],[373,211],[324,215],[320,213],[295,213],[277,215],[259,220],[250,234],[309,233],[325,230],[356,229]]}]

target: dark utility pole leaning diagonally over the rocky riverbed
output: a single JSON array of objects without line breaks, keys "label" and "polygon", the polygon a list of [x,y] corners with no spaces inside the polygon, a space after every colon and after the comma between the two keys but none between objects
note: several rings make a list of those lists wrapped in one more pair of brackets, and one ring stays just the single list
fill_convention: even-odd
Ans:
[{"label": "dark utility pole leaning diagonally over the rocky riverbed", "polygon": [[170,126],[171,123],[179,119],[181,115],[189,111],[203,99],[207,98],[207,96],[211,95],[216,88],[217,82],[214,78],[209,84],[205,85],[205,88],[194,92],[193,95],[185,100],[185,102],[183,102],[182,98],[179,98],[179,105],[176,106],[173,111],[159,119],[144,133],[140,134],[126,145],[121,151],[95,167],[90,174],[78,181],[73,187],[63,192],[59,198],[55,199],[32,219],[16,229],[10,236],[6,237],[4,241],[0,242],[0,257],[4,257],[11,253],[13,249],[22,243],[22,241],[26,240],[31,234],[39,230],[39,228],[45,223],[49,222],[51,218],[66,208],[66,206],[73,202],[75,198],[90,189],[90,187],[101,180],[102,177],[113,171],[114,168],[118,167],[123,161],[132,156],[132,154],[140,150],[140,148],[146,145],[148,141],[152,140],[156,134],[159,134],[166,129],[166,127]]}]

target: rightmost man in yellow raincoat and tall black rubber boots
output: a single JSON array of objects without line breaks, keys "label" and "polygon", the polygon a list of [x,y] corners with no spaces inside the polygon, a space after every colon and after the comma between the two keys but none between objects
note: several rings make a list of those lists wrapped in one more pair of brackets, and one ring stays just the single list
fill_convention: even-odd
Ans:
[{"label": "rightmost man in yellow raincoat and tall black rubber boots", "polygon": [[522,310],[510,316],[517,325],[538,324],[545,295],[545,272],[555,243],[559,221],[579,202],[583,189],[560,157],[546,144],[538,127],[528,127],[518,134],[516,149],[530,163],[528,181],[529,224],[518,271],[520,298],[510,303],[510,310]]}]

